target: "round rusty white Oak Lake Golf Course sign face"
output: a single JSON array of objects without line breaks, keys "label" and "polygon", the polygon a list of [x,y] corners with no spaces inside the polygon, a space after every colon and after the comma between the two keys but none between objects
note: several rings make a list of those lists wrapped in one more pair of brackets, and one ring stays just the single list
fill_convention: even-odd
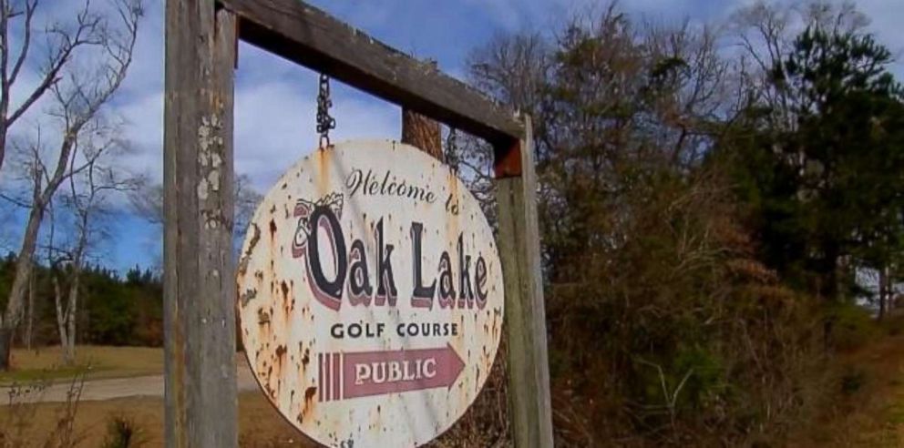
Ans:
[{"label": "round rusty white Oak Lake Golf Course sign face", "polygon": [[237,283],[263,392],[327,446],[429,442],[496,358],[493,232],[455,173],[401,143],[346,142],[295,164],[254,215]]}]

